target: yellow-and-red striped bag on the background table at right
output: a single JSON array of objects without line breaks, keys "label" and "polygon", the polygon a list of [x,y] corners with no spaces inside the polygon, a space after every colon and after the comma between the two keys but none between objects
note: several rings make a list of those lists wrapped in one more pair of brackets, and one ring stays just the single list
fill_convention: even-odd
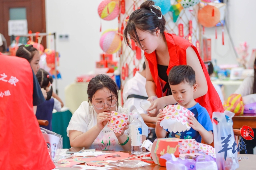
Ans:
[{"label": "yellow-and-red striped bag on the background table at right", "polygon": [[244,103],[241,94],[231,94],[223,104],[224,110],[243,115]]}]

